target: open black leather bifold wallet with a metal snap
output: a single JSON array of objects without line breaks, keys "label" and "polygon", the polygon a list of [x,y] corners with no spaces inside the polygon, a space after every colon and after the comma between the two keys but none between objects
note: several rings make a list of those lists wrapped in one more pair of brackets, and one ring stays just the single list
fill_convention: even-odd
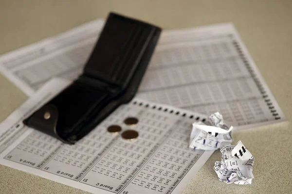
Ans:
[{"label": "open black leather bifold wallet with a metal snap", "polygon": [[23,123],[74,144],[134,97],[160,33],[156,26],[110,13],[83,74]]}]

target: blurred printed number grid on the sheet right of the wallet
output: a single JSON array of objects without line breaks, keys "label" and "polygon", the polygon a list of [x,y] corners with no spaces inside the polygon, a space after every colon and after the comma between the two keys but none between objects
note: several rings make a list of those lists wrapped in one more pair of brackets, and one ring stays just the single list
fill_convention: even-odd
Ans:
[{"label": "blurred printed number grid on the sheet right of the wallet", "polygon": [[219,111],[237,125],[271,118],[229,36],[158,47],[137,97],[207,115]]}]

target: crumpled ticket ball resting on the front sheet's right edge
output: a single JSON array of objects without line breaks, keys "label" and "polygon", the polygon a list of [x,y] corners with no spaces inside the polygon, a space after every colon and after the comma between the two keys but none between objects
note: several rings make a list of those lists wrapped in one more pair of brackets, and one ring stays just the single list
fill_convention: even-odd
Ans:
[{"label": "crumpled ticket ball resting on the front sheet's right edge", "polygon": [[216,150],[233,142],[231,130],[227,127],[220,113],[211,114],[205,124],[193,123],[190,136],[190,148],[202,150]]}]

